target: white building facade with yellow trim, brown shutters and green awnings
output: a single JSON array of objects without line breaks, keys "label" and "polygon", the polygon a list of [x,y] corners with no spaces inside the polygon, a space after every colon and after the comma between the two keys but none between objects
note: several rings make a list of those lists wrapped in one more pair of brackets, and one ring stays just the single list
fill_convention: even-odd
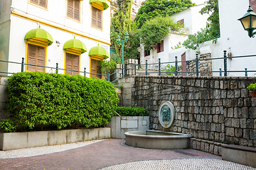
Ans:
[{"label": "white building facade with yellow trim, brown shutters and green awnings", "polygon": [[[87,72],[95,72],[95,64],[110,51],[108,4],[97,0],[0,0],[0,60],[21,62],[24,57],[26,64],[45,67],[56,67],[58,63],[61,74],[78,74],[63,69],[83,72],[86,68]],[[52,39],[37,35],[25,38],[33,29],[45,30]],[[80,45],[74,42],[63,49],[65,42],[74,37]],[[104,47],[106,56],[89,56],[90,49],[98,45]],[[40,70],[29,65],[25,71],[53,72],[50,68]],[[0,72],[21,72],[21,65],[0,62]]]}]

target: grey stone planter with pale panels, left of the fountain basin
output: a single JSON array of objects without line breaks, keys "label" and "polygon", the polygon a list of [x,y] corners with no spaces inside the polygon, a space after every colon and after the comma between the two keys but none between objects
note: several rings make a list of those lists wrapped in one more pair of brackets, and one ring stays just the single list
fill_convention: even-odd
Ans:
[{"label": "grey stone planter with pale panels, left of the fountain basin", "polygon": [[149,130],[149,116],[114,116],[109,126],[112,138],[124,139],[124,132]]}]

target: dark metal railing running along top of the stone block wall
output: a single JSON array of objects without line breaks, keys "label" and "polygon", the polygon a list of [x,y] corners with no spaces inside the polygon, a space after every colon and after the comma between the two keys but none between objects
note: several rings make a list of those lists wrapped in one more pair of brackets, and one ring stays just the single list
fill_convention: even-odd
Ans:
[{"label": "dark metal railing running along top of the stone block wall", "polygon": [[[148,75],[148,66],[149,65],[158,65],[158,72],[151,72],[151,73],[156,73],[159,76],[161,76],[162,73],[172,73],[175,76],[178,76],[178,73],[195,73],[196,76],[199,76],[199,73],[215,73],[218,72],[220,73],[220,77],[222,77],[222,73],[224,73],[224,77],[228,76],[228,72],[245,72],[245,77],[247,77],[247,73],[248,72],[256,72],[256,70],[247,70],[247,68],[245,68],[245,70],[228,70],[228,65],[227,65],[227,59],[231,59],[231,58],[242,58],[242,57],[256,57],[256,55],[243,55],[243,56],[235,56],[235,57],[227,57],[227,51],[224,50],[224,55],[223,57],[218,57],[218,58],[208,58],[208,59],[199,59],[198,58],[198,54],[196,54],[196,71],[195,72],[178,72],[178,63],[180,62],[192,62],[195,60],[184,60],[184,61],[178,61],[178,57],[175,57],[175,61],[174,62],[161,62],[161,60],[159,59],[158,63],[152,63],[152,64],[148,64],[147,60],[146,60],[146,64],[134,64],[134,75],[137,74],[146,74]],[[199,61],[203,61],[203,60],[223,60],[223,64],[224,64],[224,70],[222,70],[221,68],[219,70],[215,70],[215,71],[199,71]],[[175,65],[175,72],[163,72],[161,71],[161,64],[174,64]],[[137,68],[145,66],[146,67],[146,72],[137,72]]]}]

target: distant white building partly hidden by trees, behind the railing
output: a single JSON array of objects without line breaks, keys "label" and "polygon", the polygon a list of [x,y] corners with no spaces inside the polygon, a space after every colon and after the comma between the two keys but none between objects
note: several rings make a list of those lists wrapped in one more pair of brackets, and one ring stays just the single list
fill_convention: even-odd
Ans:
[{"label": "distant white building partly hidden by trees, behind the railing", "polygon": [[[189,34],[194,34],[201,30],[201,28],[206,28],[206,21],[209,17],[208,14],[201,15],[199,11],[201,8],[203,8],[204,4],[199,4],[197,6],[191,6],[190,8],[187,8],[186,10],[183,10],[179,13],[176,13],[175,15],[171,16],[174,18],[174,21],[179,22],[183,24],[185,30],[185,33],[181,35],[181,33],[175,33],[172,32],[170,35],[166,35],[164,39],[162,40],[163,47],[162,50],[151,50],[148,52],[150,55],[145,54],[145,50],[143,45],[141,45],[139,51],[140,51],[140,62],[141,64],[145,64],[145,61],[147,60],[149,63],[156,63],[159,59],[161,59],[161,62],[171,62],[174,61],[175,58],[172,57],[171,52],[176,51],[175,46],[178,45],[179,42],[181,44],[184,40],[188,38]],[[161,43],[159,43],[159,46],[161,46]],[[182,55],[186,50],[184,48],[178,49],[178,55]]]}]

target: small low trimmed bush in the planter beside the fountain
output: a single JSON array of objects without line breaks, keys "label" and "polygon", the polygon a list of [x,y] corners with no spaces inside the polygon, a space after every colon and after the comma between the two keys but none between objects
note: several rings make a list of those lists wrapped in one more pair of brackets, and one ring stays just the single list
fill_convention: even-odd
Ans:
[{"label": "small low trimmed bush in the planter beside the fountain", "polygon": [[149,115],[149,111],[146,108],[141,107],[117,107],[117,113],[121,116],[146,116]]}]

